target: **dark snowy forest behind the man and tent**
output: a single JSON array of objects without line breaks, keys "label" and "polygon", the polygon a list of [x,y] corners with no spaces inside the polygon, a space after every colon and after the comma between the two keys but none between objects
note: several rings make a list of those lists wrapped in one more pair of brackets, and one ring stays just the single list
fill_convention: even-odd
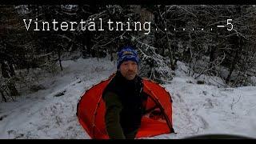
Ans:
[{"label": "dark snowy forest behind the man and tent", "polygon": [[[141,75],[158,82],[170,81],[179,61],[186,63],[186,73],[194,78],[218,76],[226,86],[254,84],[255,6],[28,5],[0,6],[0,11],[0,94],[4,102],[18,96],[22,89],[18,83],[26,78],[21,77],[21,70],[60,71],[66,58],[109,56],[114,61],[118,48],[125,45],[137,47]],[[26,30],[23,19],[36,18],[38,22],[80,22],[90,18],[126,22],[129,18],[130,22],[151,22],[151,31],[110,31],[106,27],[90,31],[79,26],[75,30],[55,31],[50,27],[49,31],[34,31],[34,25]]]}]

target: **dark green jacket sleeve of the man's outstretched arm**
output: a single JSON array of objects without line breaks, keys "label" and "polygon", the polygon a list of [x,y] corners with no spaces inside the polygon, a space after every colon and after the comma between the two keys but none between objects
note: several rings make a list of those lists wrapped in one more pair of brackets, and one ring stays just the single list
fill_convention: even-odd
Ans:
[{"label": "dark green jacket sleeve of the man's outstretched arm", "polygon": [[106,104],[105,124],[106,131],[111,139],[125,139],[122,126],[119,122],[119,114],[122,110],[122,103],[117,94],[107,92],[103,95]]}]

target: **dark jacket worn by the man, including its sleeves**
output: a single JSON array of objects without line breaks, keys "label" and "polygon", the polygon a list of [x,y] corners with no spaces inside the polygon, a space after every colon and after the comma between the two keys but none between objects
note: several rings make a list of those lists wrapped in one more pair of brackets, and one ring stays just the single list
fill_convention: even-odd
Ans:
[{"label": "dark jacket worn by the man, including its sleeves", "polygon": [[134,138],[145,110],[142,78],[136,76],[129,81],[118,71],[102,98],[106,103],[105,122],[110,138]]}]

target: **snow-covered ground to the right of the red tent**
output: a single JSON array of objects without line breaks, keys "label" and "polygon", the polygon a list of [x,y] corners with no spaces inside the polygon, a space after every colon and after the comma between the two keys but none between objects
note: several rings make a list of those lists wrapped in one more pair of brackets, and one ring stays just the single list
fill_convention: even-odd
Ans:
[{"label": "snow-covered ground to the right of the red tent", "polygon": [[166,85],[174,100],[178,138],[195,134],[238,134],[256,138],[256,88],[220,89],[174,78]]}]

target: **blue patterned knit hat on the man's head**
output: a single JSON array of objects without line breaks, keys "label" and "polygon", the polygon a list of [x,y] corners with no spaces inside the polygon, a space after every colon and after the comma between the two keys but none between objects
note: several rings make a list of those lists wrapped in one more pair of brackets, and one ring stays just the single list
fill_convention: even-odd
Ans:
[{"label": "blue patterned knit hat on the man's head", "polygon": [[121,51],[118,52],[118,69],[121,66],[122,62],[126,61],[134,61],[139,62],[138,53],[136,50],[134,50],[131,46],[125,46],[122,48]]}]

